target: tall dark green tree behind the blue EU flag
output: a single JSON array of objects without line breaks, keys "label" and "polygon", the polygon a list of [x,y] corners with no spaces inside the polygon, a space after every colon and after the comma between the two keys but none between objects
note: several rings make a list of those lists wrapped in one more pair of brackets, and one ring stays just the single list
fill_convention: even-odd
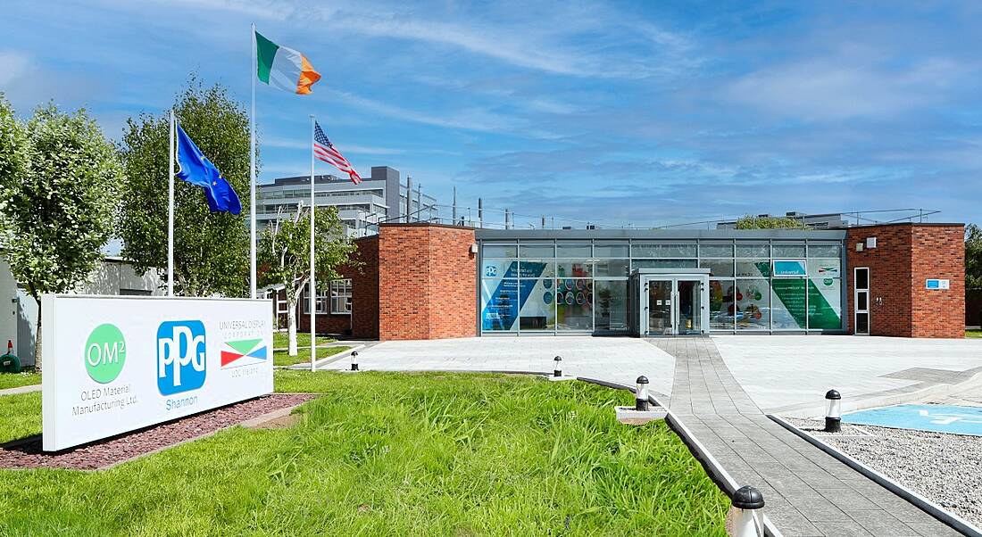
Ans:
[{"label": "tall dark green tree behind the blue EU flag", "polygon": [[[215,84],[191,78],[174,114],[194,143],[249,205],[246,109]],[[130,118],[122,154],[129,180],[119,226],[122,255],[138,272],[156,269],[167,278],[168,115]],[[180,295],[246,295],[248,227],[241,215],[212,213],[201,188],[174,181],[174,291]]]}]

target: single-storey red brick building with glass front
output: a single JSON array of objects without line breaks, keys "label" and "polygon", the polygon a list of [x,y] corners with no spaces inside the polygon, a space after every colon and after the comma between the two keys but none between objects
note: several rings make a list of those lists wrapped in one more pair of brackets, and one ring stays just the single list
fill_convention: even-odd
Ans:
[{"label": "single-storey red brick building with glass front", "polygon": [[[960,338],[963,231],[910,223],[752,231],[386,224],[356,241],[360,266],[343,269],[345,280],[324,296],[317,331],[383,341],[761,332]],[[303,302],[300,332],[309,330]]]}]

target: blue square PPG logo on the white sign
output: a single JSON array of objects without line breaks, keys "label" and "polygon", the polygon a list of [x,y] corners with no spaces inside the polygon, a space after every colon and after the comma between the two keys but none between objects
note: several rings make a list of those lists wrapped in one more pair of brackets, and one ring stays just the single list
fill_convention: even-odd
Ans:
[{"label": "blue square PPG logo on the white sign", "polygon": [[204,384],[204,324],[167,321],[157,329],[157,390],[170,396]]}]

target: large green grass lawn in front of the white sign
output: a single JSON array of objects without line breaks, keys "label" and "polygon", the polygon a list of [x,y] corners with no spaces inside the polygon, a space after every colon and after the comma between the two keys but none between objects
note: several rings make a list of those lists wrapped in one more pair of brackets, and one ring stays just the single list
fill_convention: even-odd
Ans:
[{"label": "large green grass lawn in front of the white sign", "polygon": [[324,397],[292,428],[110,470],[0,470],[0,535],[725,535],[729,502],[679,438],[614,419],[627,392],[489,374],[276,382]]}]

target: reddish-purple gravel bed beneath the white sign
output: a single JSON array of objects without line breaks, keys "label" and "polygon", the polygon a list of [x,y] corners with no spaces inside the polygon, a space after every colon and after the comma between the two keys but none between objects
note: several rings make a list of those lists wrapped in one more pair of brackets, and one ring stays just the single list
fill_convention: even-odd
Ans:
[{"label": "reddish-purple gravel bed beneath the white sign", "polygon": [[12,442],[0,448],[0,468],[103,468],[315,397],[313,394],[274,394],[51,454],[41,451],[41,438],[38,436],[27,442]]}]

